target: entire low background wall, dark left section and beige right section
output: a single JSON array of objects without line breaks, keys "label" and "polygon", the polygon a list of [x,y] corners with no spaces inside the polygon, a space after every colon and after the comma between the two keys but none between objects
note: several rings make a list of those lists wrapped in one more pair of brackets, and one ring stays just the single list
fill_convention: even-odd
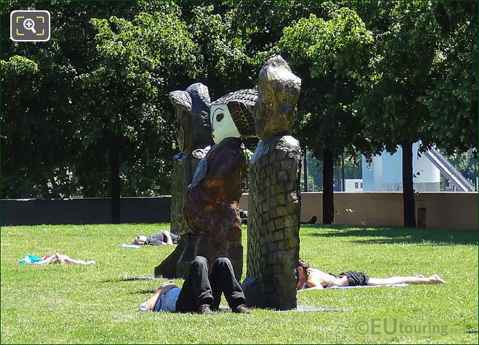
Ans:
[{"label": "entire low background wall, dark left section and beige right section", "polygon": [[[240,208],[247,210],[247,194]],[[323,193],[301,193],[301,221],[323,219]],[[122,223],[170,221],[170,196],[121,198]],[[336,224],[402,226],[402,193],[334,193]],[[477,193],[417,193],[418,225],[478,230]],[[1,200],[1,225],[108,224],[109,198]]]}]

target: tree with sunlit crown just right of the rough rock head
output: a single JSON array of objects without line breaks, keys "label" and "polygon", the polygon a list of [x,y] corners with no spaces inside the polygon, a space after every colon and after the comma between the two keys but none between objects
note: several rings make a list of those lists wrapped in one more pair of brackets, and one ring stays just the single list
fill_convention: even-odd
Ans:
[{"label": "tree with sunlit crown just right of the rough rock head", "polygon": [[372,34],[356,12],[338,8],[325,21],[315,15],[285,28],[278,49],[302,79],[298,137],[323,160],[323,223],[334,222],[334,161],[340,152],[371,150],[351,110],[359,76],[369,64]]}]

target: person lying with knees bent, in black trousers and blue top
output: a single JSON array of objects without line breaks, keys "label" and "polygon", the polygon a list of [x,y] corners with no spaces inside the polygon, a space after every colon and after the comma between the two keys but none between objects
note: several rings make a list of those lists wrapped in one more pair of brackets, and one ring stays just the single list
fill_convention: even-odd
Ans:
[{"label": "person lying with knees bent, in black trousers and blue top", "polygon": [[205,257],[195,257],[183,288],[171,280],[164,282],[154,295],[140,305],[140,311],[171,311],[179,313],[213,314],[218,310],[221,294],[233,313],[249,313],[245,294],[234,277],[233,266],[227,257],[218,257],[208,274]]}]

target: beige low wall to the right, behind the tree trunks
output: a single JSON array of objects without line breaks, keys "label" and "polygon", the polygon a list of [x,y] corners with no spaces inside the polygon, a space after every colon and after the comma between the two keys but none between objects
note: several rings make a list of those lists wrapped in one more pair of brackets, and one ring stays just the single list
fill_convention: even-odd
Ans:
[{"label": "beige low wall to the right, behind the tree trunks", "polygon": [[[323,219],[323,193],[301,193],[301,221]],[[247,209],[247,194],[240,200]],[[477,193],[417,193],[416,217],[427,228],[478,230]],[[335,223],[364,226],[403,226],[402,193],[334,193]]]}]

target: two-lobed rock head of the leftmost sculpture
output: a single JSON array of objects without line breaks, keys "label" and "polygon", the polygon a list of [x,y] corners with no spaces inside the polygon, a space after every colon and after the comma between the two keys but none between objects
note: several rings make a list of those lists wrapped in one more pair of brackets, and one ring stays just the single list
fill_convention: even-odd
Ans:
[{"label": "two-lobed rock head of the leftmost sculpture", "polygon": [[180,150],[192,152],[198,146],[211,144],[210,94],[202,83],[186,91],[170,92],[176,115],[176,140]]}]

